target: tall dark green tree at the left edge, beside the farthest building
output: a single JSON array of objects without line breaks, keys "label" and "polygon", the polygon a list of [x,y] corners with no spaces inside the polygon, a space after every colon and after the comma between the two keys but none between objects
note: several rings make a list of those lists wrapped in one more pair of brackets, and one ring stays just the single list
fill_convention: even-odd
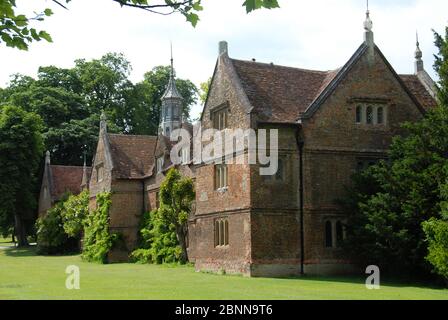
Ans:
[{"label": "tall dark green tree at the left edge, beside the farthest building", "polygon": [[41,131],[42,120],[35,113],[13,106],[0,110],[0,221],[8,226],[14,220],[19,246],[27,245],[27,221],[32,220],[36,208]]}]

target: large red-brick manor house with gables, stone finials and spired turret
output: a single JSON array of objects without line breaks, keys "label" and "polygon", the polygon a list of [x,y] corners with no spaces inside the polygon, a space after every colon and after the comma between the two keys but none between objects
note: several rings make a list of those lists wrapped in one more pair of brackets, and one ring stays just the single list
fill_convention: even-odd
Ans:
[{"label": "large red-brick manor house with gables, stone finials and spired turret", "polygon": [[[189,222],[189,257],[196,269],[249,276],[352,272],[339,246],[346,212],[336,200],[354,172],[387,156],[403,122],[435,106],[435,84],[418,43],[415,58],[415,73],[398,75],[375,45],[369,17],[364,42],[332,71],[236,60],[220,43],[202,131],[195,134],[276,129],[279,170],[266,177],[260,165],[247,161],[195,164],[183,154],[178,167],[196,188]],[[90,191],[92,206],[98,192],[113,192],[111,230],[124,234],[126,250],[113,253],[112,261],[127,258],[140,215],[158,207],[160,183],[173,167],[166,136],[189,127],[181,119],[181,101],[173,73],[158,137],[110,135],[102,121]]]}]

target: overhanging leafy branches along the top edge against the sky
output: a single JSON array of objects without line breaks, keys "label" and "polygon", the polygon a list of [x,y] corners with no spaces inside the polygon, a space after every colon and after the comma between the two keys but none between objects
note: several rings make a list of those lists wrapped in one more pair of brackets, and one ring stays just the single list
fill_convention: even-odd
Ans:
[{"label": "overhanging leafy branches along the top edge against the sky", "polygon": [[[72,0],[52,0],[58,6],[67,9],[64,3]],[[198,13],[203,10],[202,0],[112,0],[122,7],[132,7],[145,10],[151,13],[170,15],[173,13],[182,14],[192,26],[196,26],[199,21]],[[257,9],[278,8],[277,0],[246,0],[243,3],[247,13]],[[28,46],[33,41],[42,39],[52,42],[51,36],[46,31],[37,31],[31,27],[33,21],[43,21],[45,17],[53,14],[50,8],[34,16],[16,14],[16,0],[0,0],[0,43],[5,43],[9,47],[28,50]]]}]

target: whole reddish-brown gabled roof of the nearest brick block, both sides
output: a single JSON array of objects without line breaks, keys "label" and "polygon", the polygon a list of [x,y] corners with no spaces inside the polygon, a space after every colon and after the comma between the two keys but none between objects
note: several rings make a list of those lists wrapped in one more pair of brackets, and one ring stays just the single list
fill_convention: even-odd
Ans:
[{"label": "whole reddish-brown gabled roof of the nearest brick block, both sides", "polygon": [[[361,44],[342,68],[333,71],[305,70],[235,59],[230,61],[260,121],[296,123],[316,112],[368,49],[367,44]],[[377,46],[374,50],[421,112],[436,104],[417,76],[399,76],[381,50]]]}]

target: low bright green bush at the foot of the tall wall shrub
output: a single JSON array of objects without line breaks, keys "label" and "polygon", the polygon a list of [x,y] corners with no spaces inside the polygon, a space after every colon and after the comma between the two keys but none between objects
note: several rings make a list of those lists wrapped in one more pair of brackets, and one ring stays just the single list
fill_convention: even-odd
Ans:
[{"label": "low bright green bush at the foot of the tall wall shrub", "polygon": [[139,263],[180,262],[182,249],[177,240],[174,225],[167,225],[155,210],[145,213],[140,229],[140,248],[131,254],[131,259]]}]

